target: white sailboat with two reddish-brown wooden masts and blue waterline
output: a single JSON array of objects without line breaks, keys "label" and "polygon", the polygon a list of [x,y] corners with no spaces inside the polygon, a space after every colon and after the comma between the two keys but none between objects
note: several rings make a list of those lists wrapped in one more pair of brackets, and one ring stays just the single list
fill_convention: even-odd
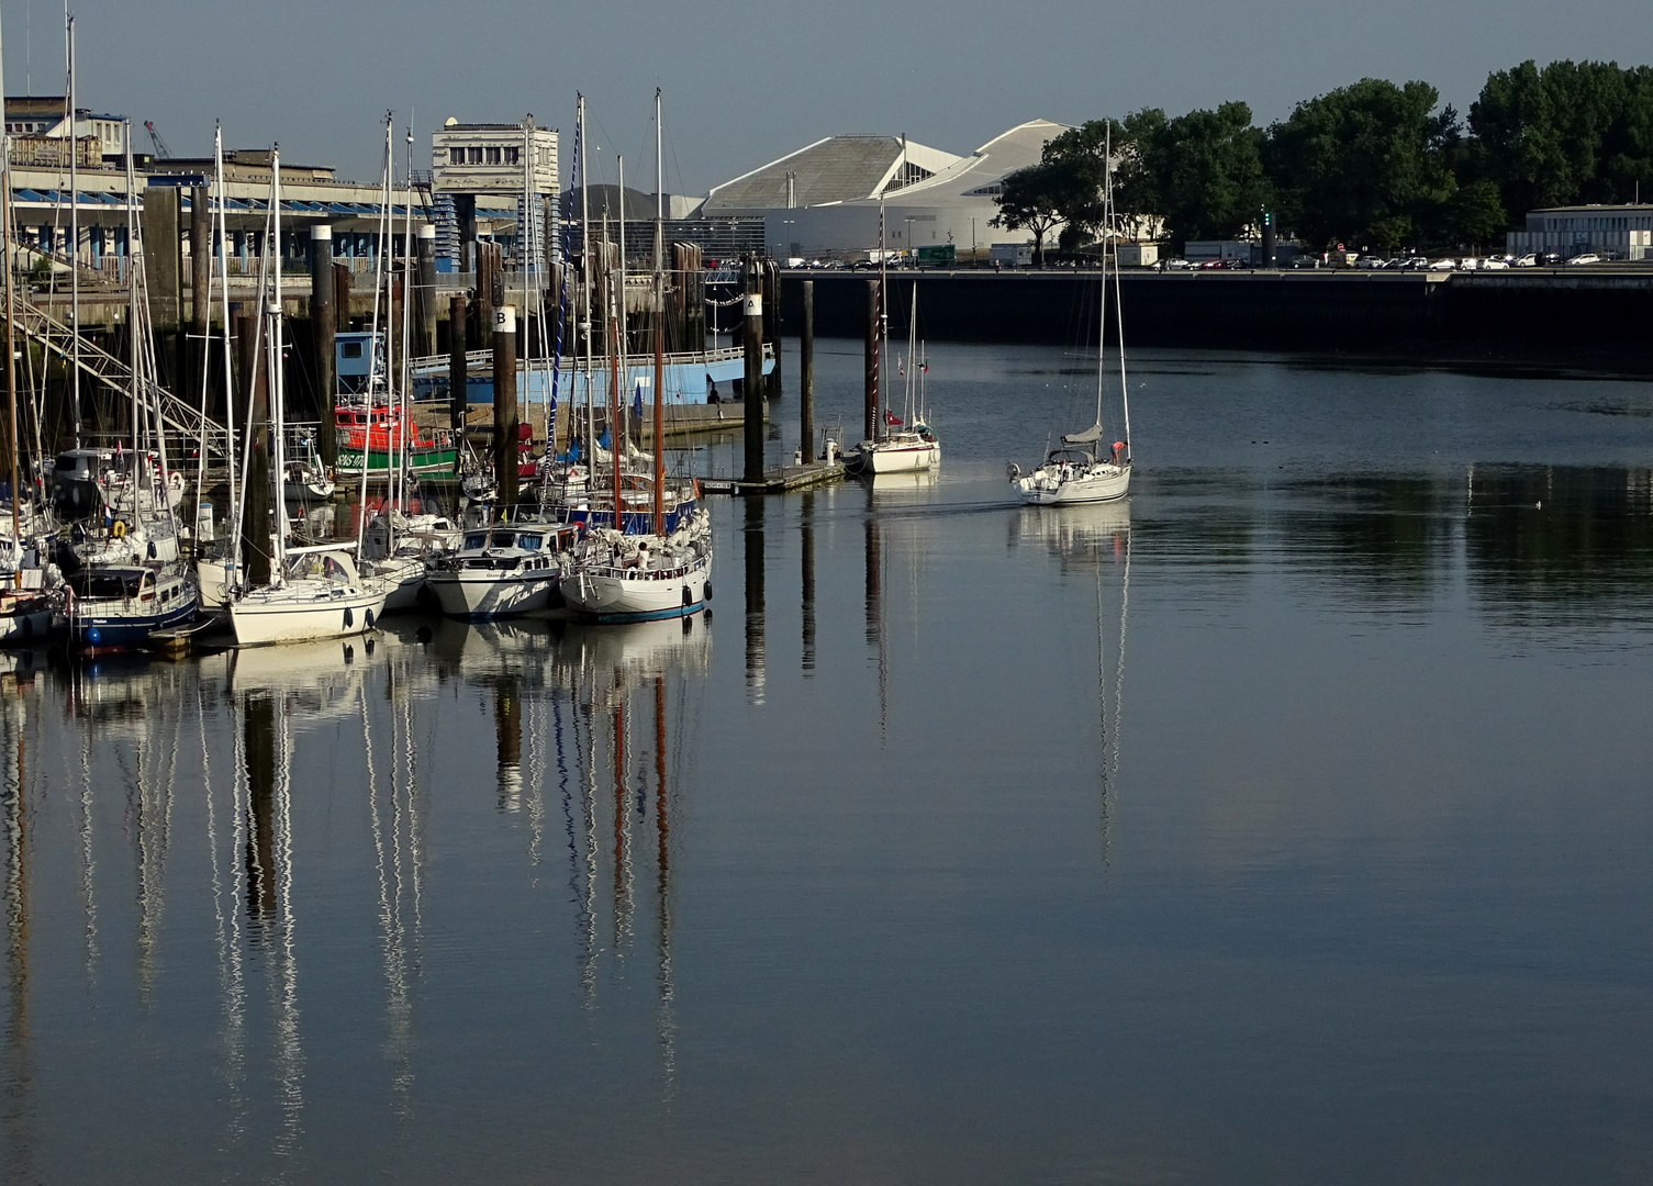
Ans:
[{"label": "white sailboat with two reddish-brown wooden masts and blue waterline", "polygon": [[[656,177],[655,190],[661,192],[660,177],[660,91],[655,93],[655,132],[656,132]],[[622,185],[622,192],[625,187]],[[622,223],[623,226],[623,223]],[[684,505],[679,500],[676,524],[668,522],[666,514],[666,449],[665,449],[665,413],[663,388],[666,385],[666,274],[663,218],[655,215],[655,451],[653,482],[650,494],[651,532],[628,534],[625,474],[622,471],[622,438],[612,429],[612,466],[613,466],[613,502],[610,522],[613,527],[597,529],[587,534],[584,553],[574,570],[572,580],[562,581],[564,603],[575,614],[595,618],[603,623],[653,621],[658,618],[684,618],[706,608],[711,598],[712,568],[712,530],[711,517],[706,510]],[[622,261],[625,254],[622,251]],[[625,287],[610,284],[615,289],[610,307],[610,342],[623,342],[622,317],[625,311]],[[620,362],[618,353],[610,350],[613,358],[610,385],[612,426],[620,425]],[[686,512],[686,514],[684,514]]]}]

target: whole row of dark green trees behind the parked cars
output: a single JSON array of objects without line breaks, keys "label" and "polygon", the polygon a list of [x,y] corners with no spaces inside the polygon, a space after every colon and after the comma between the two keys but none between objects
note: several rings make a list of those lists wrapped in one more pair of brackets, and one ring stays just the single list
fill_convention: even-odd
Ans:
[{"label": "whole row of dark green trees behind the parked cars", "polygon": [[1040,256],[1058,225],[1066,249],[1098,240],[1108,145],[1122,230],[1175,249],[1243,238],[1265,213],[1314,251],[1470,248],[1539,206],[1635,202],[1643,185],[1653,200],[1653,68],[1526,61],[1488,76],[1468,121],[1428,83],[1375,78],[1268,127],[1245,102],[1088,121],[1005,175],[998,225],[1031,231]]}]

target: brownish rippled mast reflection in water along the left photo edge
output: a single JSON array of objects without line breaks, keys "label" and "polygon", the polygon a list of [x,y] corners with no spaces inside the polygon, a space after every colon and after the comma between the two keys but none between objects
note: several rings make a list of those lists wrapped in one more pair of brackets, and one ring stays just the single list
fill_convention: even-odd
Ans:
[{"label": "brownish rippled mast reflection in water along the left photo edge", "polygon": [[17,748],[15,776],[0,791],[5,808],[5,933],[7,933],[7,1080],[5,1128],[17,1179],[31,1178],[33,1136],[28,1130],[33,1069],[30,1065],[28,1031],[28,799],[23,771],[23,700],[17,699],[17,717],[5,714],[7,740]]}]

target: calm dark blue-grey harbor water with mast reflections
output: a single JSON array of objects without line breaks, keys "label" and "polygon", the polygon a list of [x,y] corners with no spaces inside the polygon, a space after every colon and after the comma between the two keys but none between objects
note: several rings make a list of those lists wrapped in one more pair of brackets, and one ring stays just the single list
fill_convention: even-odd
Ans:
[{"label": "calm dark blue-grey harbor water with mast reflections", "polygon": [[21,656],[0,1181],[1653,1176],[1653,387],[931,363],[709,621]]}]

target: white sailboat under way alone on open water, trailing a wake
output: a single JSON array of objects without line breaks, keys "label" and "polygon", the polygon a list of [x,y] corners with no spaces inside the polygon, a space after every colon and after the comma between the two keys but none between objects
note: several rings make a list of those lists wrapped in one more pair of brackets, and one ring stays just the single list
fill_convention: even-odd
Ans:
[{"label": "white sailboat under way alone on open water, trailing a wake", "polygon": [[[1109,137],[1111,140],[1111,137]],[[1010,484],[1031,505],[1068,505],[1122,499],[1131,489],[1131,390],[1126,382],[1124,306],[1119,299],[1119,236],[1114,225],[1114,173],[1111,144],[1103,197],[1103,286],[1098,299],[1096,330],[1096,420],[1078,433],[1061,438],[1061,446],[1045,454],[1030,474],[1010,466]],[[1119,398],[1124,411],[1124,439],[1103,453],[1103,387],[1108,353],[1108,274],[1114,278],[1114,325],[1119,335]]]}]

